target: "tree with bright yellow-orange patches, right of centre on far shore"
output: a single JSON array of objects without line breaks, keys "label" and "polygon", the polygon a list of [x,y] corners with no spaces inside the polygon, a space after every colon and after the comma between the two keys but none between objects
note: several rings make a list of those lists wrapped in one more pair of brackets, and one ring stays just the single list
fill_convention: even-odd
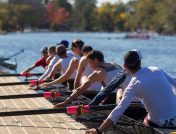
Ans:
[{"label": "tree with bright yellow-orange patches, right of centre on far shore", "polygon": [[122,3],[104,3],[96,9],[96,21],[98,30],[114,31],[123,30],[127,19],[125,6]]}]

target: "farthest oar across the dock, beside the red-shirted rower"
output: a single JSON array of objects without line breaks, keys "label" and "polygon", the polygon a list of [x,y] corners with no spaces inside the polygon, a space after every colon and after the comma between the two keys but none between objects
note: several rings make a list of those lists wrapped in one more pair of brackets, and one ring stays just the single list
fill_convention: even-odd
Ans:
[{"label": "farthest oar across the dock, beside the red-shirted rower", "polygon": [[0,77],[32,77],[32,76],[41,76],[43,73],[21,73],[21,74],[0,74]]}]

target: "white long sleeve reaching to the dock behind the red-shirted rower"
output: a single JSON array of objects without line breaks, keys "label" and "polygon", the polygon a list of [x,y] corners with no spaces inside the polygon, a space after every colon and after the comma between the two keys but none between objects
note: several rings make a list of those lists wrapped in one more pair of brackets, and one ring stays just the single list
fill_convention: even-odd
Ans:
[{"label": "white long sleeve reaching to the dock behind the red-shirted rower", "polygon": [[45,71],[45,73],[44,73],[42,76],[40,76],[39,80],[45,79],[45,78],[50,74],[50,72],[52,71],[53,66],[57,63],[57,61],[58,61],[59,59],[60,59],[60,57],[56,54],[56,55],[52,58],[52,60],[50,61],[49,65],[48,65],[48,68],[47,68],[47,70]]}]

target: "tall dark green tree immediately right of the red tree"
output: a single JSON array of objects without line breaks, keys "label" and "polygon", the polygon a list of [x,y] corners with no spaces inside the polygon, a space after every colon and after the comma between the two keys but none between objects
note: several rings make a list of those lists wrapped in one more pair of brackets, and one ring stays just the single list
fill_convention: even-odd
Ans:
[{"label": "tall dark green tree immediately right of the red tree", "polygon": [[76,31],[94,31],[96,0],[74,0],[70,26]]}]

